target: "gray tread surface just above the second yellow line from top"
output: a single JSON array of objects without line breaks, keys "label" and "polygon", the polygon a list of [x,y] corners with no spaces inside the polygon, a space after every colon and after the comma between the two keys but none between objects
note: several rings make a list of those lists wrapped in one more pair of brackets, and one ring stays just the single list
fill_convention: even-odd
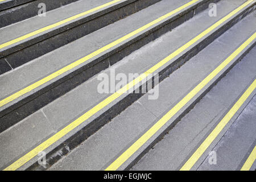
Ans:
[{"label": "gray tread surface just above the second yellow line from top", "polygon": [[[188,2],[188,0],[186,1]],[[180,1],[161,1],[145,10],[139,11],[66,46],[49,52],[38,59],[30,61],[30,63],[24,64],[22,67],[14,69],[7,74],[1,75],[0,84],[2,87],[0,98],[5,98],[11,93],[121,38],[123,35],[159,18],[161,15],[176,9],[184,3]],[[2,36],[6,37],[6,35]]]}]

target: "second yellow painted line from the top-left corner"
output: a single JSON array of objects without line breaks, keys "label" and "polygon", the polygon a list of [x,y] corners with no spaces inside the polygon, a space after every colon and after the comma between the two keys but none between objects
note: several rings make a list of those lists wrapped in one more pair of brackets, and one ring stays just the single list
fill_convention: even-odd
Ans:
[{"label": "second yellow painted line from the top-left corner", "polygon": [[[39,80],[39,81],[35,82],[34,84],[29,85],[29,86],[27,86],[26,88],[24,88],[22,90],[19,90],[18,92],[12,94],[11,96],[4,98],[3,100],[0,101],[0,107],[8,104],[9,102],[15,100],[16,98],[18,98],[20,96],[23,96],[24,94],[30,92],[31,90],[34,90],[34,89],[38,88],[40,85],[43,85],[43,84],[45,84],[48,81],[51,81],[53,78],[56,78],[57,76],[59,76],[59,75],[65,73],[65,72],[71,70],[72,68],[77,67],[78,65],[84,63],[85,61],[88,61],[89,59],[92,59],[93,57],[99,55],[100,53],[102,53],[102,52],[104,52],[104,51],[106,51],[106,50],[108,50],[108,49],[110,49],[110,48],[112,48],[114,46],[116,46],[117,44],[124,42],[125,40],[131,38],[132,36],[134,36],[136,34],[139,34],[139,32],[142,32],[143,30],[146,30],[146,28],[154,26],[154,24],[156,24],[156,23],[158,23],[158,22],[160,22],[160,21],[170,17],[171,15],[173,15],[175,13],[178,13],[179,11],[185,9],[186,7],[192,5],[193,3],[196,3],[197,1],[200,1],[200,0],[193,0],[191,2],[188,2],[187,4],[177,8],[176,10],[171,11],[170,13],[161,16],[160,18],[158,18],[158,19],[156,19],[156,20],[154,20],[154,21],[144,25],[141,28],[138,28],[137,30],[131,32],[130,34],[127,34],[127,35],[123,36],[122,38],[120,38],[118,40],[115,40],[114,42],[112,42],[112,43],[110,43],[110,44],[108,44],[108,45],[98,49],[97,51],[94,51],[94,52],[90,53],[89,55],[87,55],[85,57],[82,57],[80,60],[77,60],[74,63],[71,63],[71,64],[67,65],[64,68],[59,69],[59,71],[56,71],[56,72],[52,73],[51,75],[49,75],[47,77],[44,77],[42,80]],[[250,2],[252,2],[252,1],[253,0],[251,0]],[[246,3],[246,5],[248,5],[248,4],[249,3]]]}]

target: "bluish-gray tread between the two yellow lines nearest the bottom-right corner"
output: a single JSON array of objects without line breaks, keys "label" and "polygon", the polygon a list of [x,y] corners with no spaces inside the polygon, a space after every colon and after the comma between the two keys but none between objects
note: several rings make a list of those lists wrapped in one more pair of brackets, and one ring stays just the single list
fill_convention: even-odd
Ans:
[{"label": "bluish-gray tread between the two yellow lines nearest the bottom-right corner", "polygon": [[[256,49],[254,49],[256,52]],[[256,54],[254,54],[256,56]],[[254,57],[251,57],[253,59]],[[256,96],[245,107],[229,130],[213,148],[216,164],[210,165],[209,156],[198,170],[240,170],[256,144]],[[255,170],[254,166],[251,170]]]}]

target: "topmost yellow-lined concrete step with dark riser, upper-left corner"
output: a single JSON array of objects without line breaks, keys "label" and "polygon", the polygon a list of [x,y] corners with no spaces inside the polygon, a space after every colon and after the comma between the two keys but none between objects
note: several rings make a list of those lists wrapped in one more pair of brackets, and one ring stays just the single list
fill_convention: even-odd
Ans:
[{"label": "topmost yellow-lined concrete step with dark riser, upper-left corner", "polygon": [[81,0],[49,11],[45,17],[34,16],[3,27],[0,29],[0,74],[158,1]]}]

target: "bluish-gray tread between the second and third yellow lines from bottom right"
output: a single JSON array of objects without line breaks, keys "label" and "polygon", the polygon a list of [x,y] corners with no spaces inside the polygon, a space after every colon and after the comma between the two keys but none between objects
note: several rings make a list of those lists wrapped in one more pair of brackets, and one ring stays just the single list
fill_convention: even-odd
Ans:
[{"label": "bluish-gray tread between the second and third yellow lines from bottom right", "polygon": [[[224,117],[224,114],[230,110],[234,102],[248,88],[251,82],[254,81],[256,76],[256,60],[253,57],[255,57],[255,53],[256,49],[254,47],[131,170],[180,169],[199,144],[213,130],[214,126]],[[227,97],[229,94],[231,96]],[[237,113],[234,118],[236,117],[238,117]],[[252,127],[251,130],[253,131],[255,128]],[[221,132],[220,135],[222,136],[224,134],[225,131]],[[247,142],[251,143],[251,138]],[[209,148],[213,147],[214,144]],[[247,149],[245,148],[245,150]],[[205,152],[206,156],[209,151]],[[243,157],[245,154],[240,155]],[[199,160],[196,166],[199,166],[204,161],[206,157],[204,156],[202,156],[202,159]],[[197,169],[197,167],[192,169]]]}]

